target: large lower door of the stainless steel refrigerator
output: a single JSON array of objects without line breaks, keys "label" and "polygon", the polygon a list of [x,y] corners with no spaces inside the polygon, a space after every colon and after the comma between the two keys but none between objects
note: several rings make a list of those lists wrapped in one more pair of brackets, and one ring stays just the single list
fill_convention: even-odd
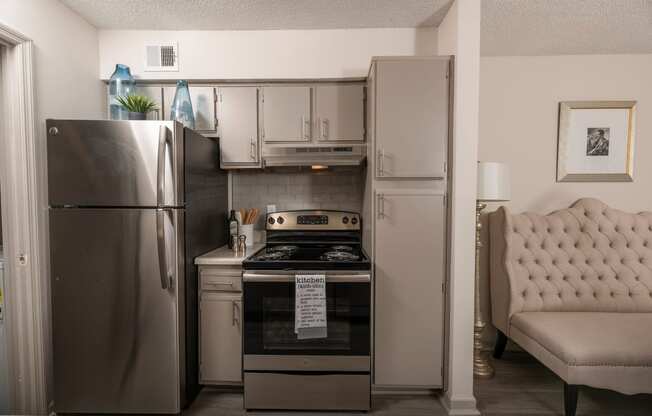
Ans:
[{"label": "large lower door of the stainless steel refrigerator", "polygon": [[182,212],[50,210],[57,413],[180,412]]}]

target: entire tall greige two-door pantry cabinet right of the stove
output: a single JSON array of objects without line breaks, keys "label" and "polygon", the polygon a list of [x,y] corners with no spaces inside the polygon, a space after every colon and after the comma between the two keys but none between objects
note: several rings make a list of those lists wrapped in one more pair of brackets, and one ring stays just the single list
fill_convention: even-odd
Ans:
[{"label": "entire tall greige two-door pantry cabinet right of the stove", "polygon": [[443,386],[449,57],[372,61],[364,246],[374,259],[374,384]]}]

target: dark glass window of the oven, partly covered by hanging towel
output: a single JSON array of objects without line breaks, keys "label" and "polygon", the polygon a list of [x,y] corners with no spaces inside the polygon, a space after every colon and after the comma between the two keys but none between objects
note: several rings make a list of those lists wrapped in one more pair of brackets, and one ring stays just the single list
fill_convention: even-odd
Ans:
[{"label": "dark glass window of the oven, partly covered by hanging towel", "polygon": [[263,349],[349,351],[351,349],[351,306],[348,299],[327,298],[327,337],[297,339],[294,333],[294,302],[288,298],[263,298]]}]

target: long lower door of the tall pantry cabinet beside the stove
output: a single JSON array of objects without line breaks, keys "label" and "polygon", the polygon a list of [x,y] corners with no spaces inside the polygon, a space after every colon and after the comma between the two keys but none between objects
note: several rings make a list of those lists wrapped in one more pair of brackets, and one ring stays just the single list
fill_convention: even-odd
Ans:
[{"label": "long lower door of the tall pantry cabinet beside the stove", "polygon": [[375,383],[441,387],[444,197],[392,190],[376,204]]}]

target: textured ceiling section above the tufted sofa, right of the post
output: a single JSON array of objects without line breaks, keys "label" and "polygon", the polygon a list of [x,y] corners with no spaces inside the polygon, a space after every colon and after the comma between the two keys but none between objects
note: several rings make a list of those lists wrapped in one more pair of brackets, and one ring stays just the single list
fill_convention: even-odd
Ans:
[{"label": "textured ceiling section above the tufted sofa, right of the post", "polygon": [[483,55],[652,52],[652,0],[483,0]]}]

